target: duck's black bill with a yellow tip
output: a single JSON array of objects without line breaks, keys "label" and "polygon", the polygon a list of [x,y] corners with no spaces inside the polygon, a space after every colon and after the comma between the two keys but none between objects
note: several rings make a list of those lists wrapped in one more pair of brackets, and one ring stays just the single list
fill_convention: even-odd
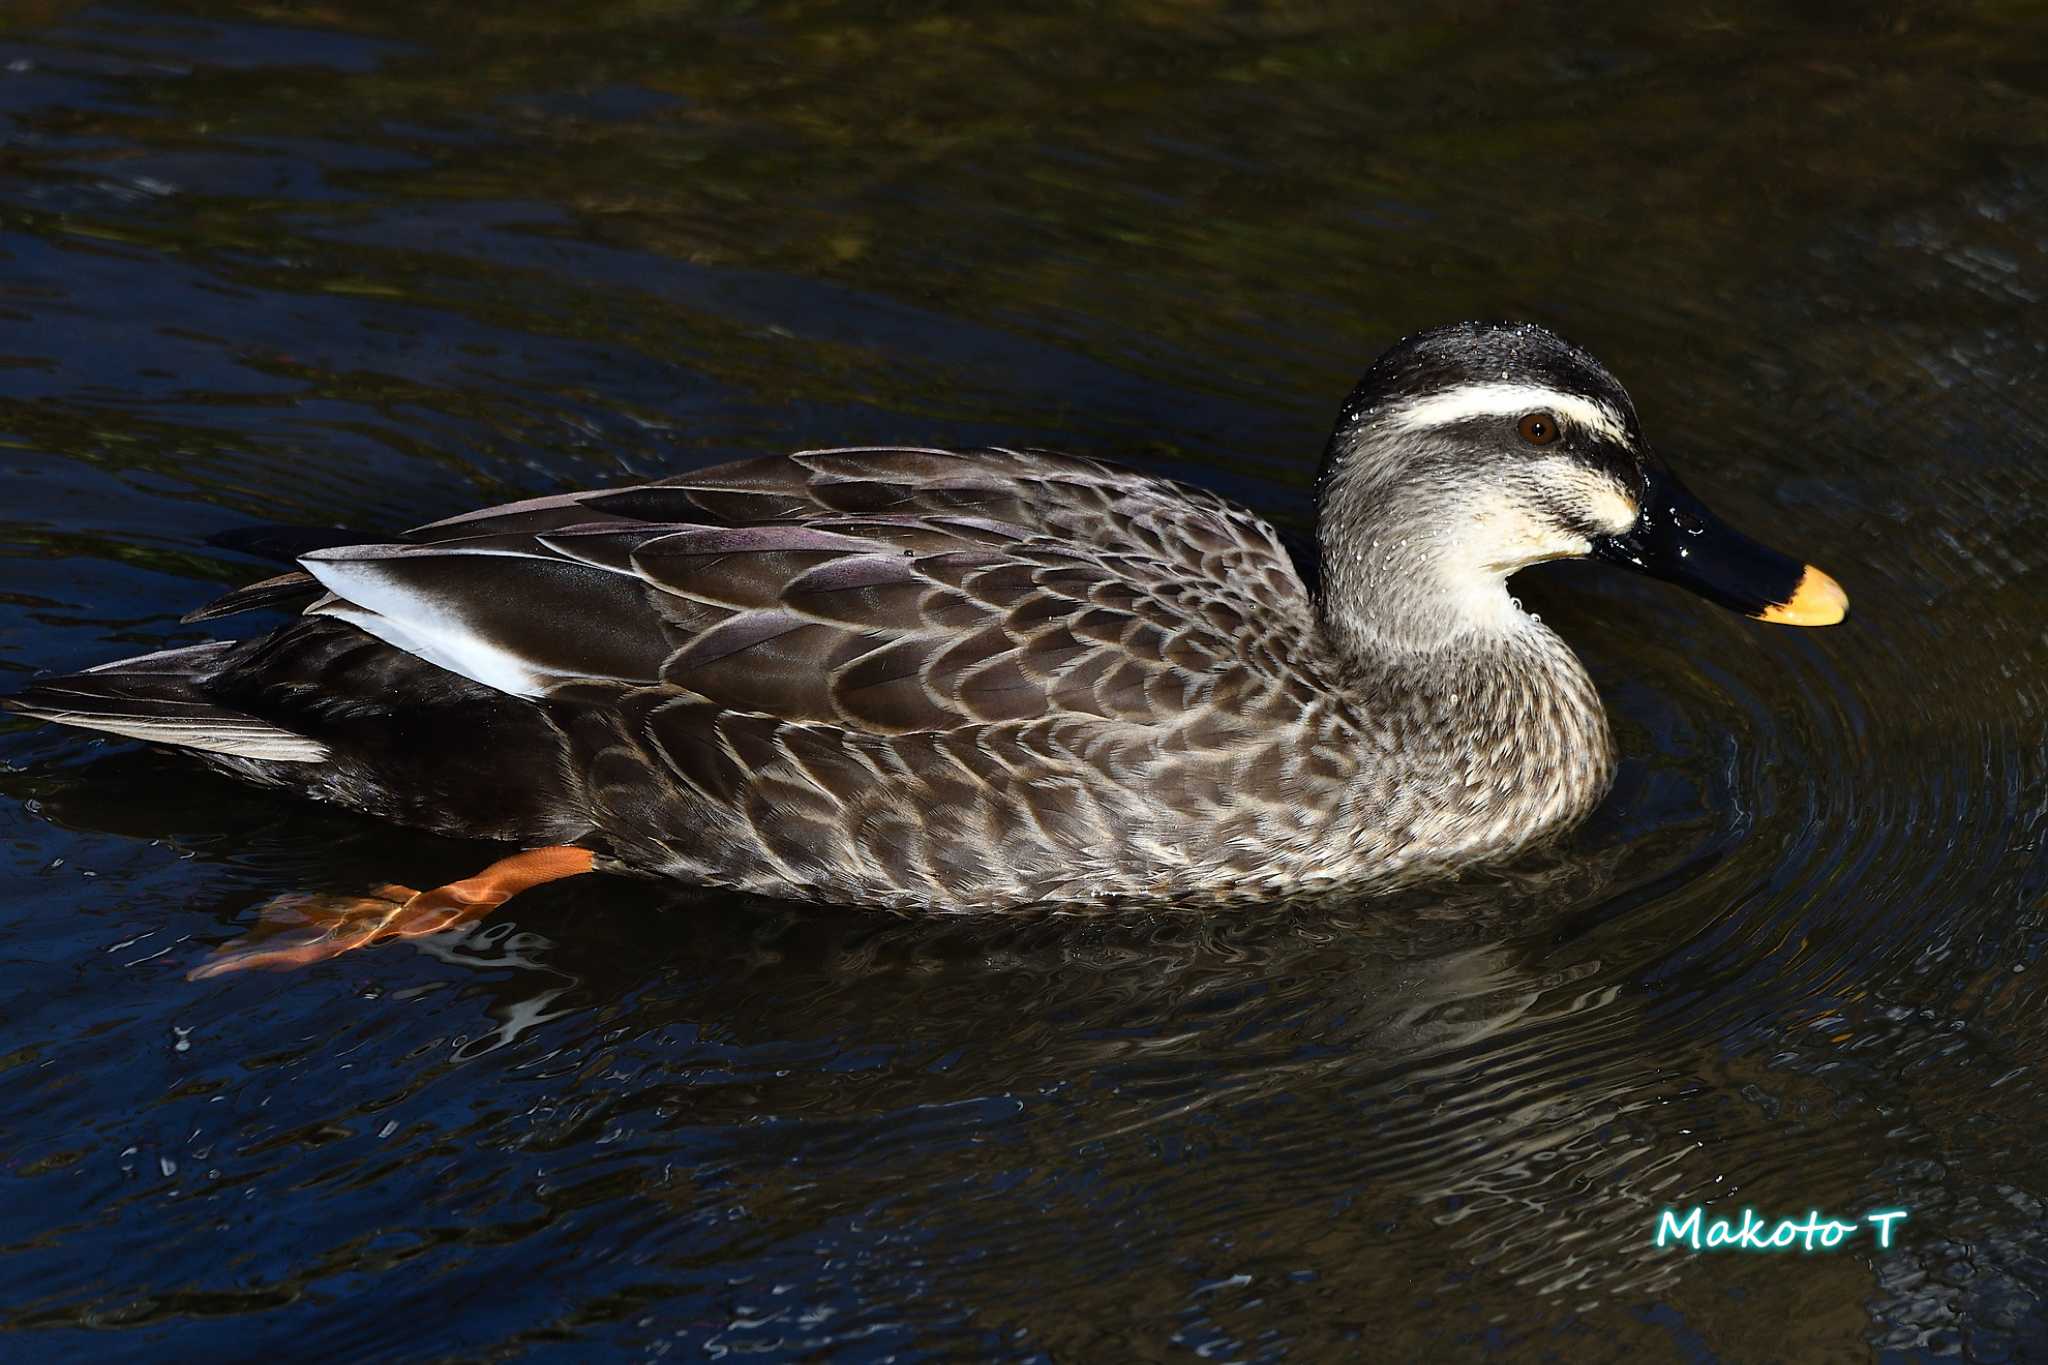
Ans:
[{"label": "duck's black bill with a yellow tip", "polygon": [[1849,593],[1812,565],[1757,544],[1667,473],[1651,475],[1634,528],[1602,536],[1593,555],[1690,587],[1708,602],[1784,626],[1833,626]]}]

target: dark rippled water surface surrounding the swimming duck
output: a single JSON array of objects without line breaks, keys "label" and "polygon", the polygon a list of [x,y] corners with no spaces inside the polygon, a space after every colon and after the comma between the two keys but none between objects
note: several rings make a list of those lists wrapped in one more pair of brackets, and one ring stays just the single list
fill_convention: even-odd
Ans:
[{"label": "dark rippled water surface surrounding the swimming duck", "polygon": [[[8,1359],[1982,1359],[2048,1342],[2036,6],[10,0],[0,690],[252,522],[1040,442],[1300,524],[1518,315],[1853,618],[1561,567],[1628,751],[1397,902],[920,923],[596,882],[0,722]],[[1655,1214],[1892,1250],[1690,1254]]]}]

